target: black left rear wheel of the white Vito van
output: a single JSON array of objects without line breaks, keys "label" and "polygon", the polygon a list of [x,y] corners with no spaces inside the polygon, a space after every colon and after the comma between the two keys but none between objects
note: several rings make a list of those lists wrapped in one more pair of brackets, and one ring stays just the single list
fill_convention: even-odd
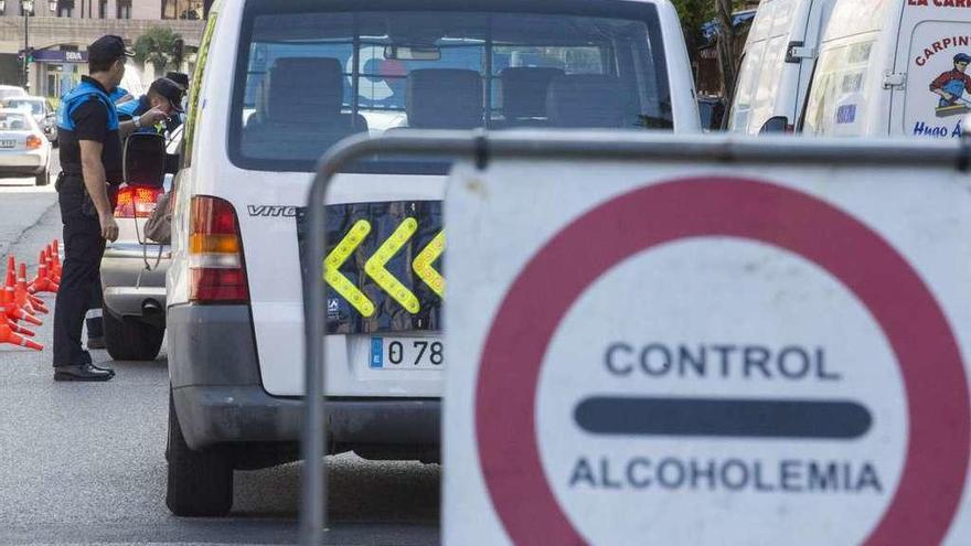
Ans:
[{"label": "black left rear wheel of the white Vito van", "polygon": [[169,482],[166,505],[177,516],[221,517],[233,507],[233,463],[225,450],[192,450],[182,436],[182,426],[169,387]]}]

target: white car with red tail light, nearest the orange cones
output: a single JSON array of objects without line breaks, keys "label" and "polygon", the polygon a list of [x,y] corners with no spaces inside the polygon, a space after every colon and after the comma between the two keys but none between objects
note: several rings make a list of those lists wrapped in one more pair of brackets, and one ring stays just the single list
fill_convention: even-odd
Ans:
[{"label": "white car with red tail light, nearest the orange cones", "polygon": [[51,182],[51,143],[33,116],[0,109],[0,178],[33,176],[34,184]]}]

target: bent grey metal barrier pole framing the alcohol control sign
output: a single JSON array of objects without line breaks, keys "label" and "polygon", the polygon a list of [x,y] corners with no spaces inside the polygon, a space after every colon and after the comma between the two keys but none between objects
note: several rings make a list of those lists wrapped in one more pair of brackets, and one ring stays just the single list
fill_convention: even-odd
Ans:
[{"label": "bent grey metal barrier pole framing the alcohol control sign", "polygon": [[793,137],[738,138],[730,136],[675,136],[631,131],[406,131],[405,135],[348,138],[320,159],[310,190],[310,234],[305,249],[308,275],[303,281],[307,367],[303,419],[303,490],[300,544],[319,546],[326,523],[324,474],[324,335],[326,290],[323,260],[327,254],[327,200],[330,183],[351,161],[375,153],[474,158],[484,168],[490,157],[504,159],[584,158],[589,160],[685,161],[718,164],[734,161],[765,163],[883,164],[915,168],[952,162],[967,164],[968,150],[947,143],[890,140],[813,142]]}]

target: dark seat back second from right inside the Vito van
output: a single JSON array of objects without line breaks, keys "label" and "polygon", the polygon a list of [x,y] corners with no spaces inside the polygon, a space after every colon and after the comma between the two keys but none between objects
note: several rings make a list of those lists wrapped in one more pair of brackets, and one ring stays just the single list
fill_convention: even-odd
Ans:
[{"label": "dark seat back second from right inside the Vito van", "polygon": [[561,68],[510,67],[499,77],[502,114],[511,127],[543,127],[546,118],[546,93],[553,79],[563,76]]}]

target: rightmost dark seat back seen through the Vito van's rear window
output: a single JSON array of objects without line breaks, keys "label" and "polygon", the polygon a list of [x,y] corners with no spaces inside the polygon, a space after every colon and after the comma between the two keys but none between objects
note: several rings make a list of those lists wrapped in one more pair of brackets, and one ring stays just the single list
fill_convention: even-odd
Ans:
[{"label": "rightmost dark seat back seen through the Vito van's rear window", "polygon": [[546,92],[546,111],[554,127],[623,127],[620,82],[600,74],[557,76]]}]

